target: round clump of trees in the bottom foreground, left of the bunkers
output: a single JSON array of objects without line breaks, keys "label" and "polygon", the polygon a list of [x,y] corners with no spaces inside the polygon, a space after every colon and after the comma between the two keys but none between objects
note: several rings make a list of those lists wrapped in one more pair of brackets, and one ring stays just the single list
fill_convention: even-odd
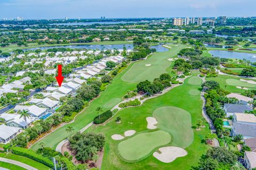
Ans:
[{"label": "round clump of trees in the bottom foreground, left of the bunkers", "polygon": [[70,147],[76,152],[76,159],[81,162],[93,160],[97,162],[98,152],[105,145],[105,137],[103,134],[95,133],[76,133],[69,138]]}]

